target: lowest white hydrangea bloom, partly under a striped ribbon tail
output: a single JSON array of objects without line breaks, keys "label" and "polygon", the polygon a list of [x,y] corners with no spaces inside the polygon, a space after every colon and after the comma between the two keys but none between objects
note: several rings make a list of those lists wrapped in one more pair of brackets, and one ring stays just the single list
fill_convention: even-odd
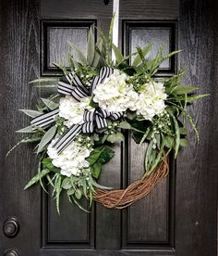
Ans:
[{"label": "lowest white hydrangea bloom, partly under a striped ribbon tail", "polygon": [[84,168],[89,168],[90,164],[86,158],[90,156],[91,149],[73,141],[58,155],[53,147],[56,140],[54,139],[48,146],[47,154],[52,159],[53,165],[61,169],[61,174],[70,177],[71,175],[79,175]]}]

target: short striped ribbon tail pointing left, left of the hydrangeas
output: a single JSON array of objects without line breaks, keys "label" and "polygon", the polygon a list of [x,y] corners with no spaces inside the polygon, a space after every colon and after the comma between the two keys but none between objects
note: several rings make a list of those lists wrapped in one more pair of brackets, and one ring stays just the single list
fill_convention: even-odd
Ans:
[{"label": "short striped ribbon tail pointing left, left of the hydrangeas", "polygon": [[58,113],[59,113],[59,109],[54,109],[54,110],[52,110],[49,113],[42,114],[41,116],[38,116],[38,117],[34,118],[30,122],[30,124],[33,126],[33,129],[34,129],[34,126],[36,126],[36,127],[38,126],[38,127],[44,128],[47,125],[55,122],[55,116]]}]

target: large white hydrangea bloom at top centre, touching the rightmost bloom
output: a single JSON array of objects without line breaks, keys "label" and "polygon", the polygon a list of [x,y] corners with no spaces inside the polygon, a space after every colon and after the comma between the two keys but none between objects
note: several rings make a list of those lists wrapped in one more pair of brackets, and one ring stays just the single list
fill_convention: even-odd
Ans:
[{"label": "large white hydrangea bloom at top centre, touching the rightmost bloom", "polygon": [[136,110],[138,94],[132,85],[126,83],[127,74],[120,70],[106,78],[103,83],[97,84],[94,90],[93,101],[102,109],[108,111]]}]

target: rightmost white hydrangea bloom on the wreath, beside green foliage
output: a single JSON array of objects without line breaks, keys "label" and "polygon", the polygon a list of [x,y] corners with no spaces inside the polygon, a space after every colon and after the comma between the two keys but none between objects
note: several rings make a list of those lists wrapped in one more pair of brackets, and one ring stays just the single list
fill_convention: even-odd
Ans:
[{"label": "rightmost white hydrangea bloom on the wreath, beside green foliage", "polygon": [[137,114],[151,121],[155,115],[163,113],[166,97],[163,83],[156,83],[154,81],[146,83],[139,93],[139,100],[136,104]]}]

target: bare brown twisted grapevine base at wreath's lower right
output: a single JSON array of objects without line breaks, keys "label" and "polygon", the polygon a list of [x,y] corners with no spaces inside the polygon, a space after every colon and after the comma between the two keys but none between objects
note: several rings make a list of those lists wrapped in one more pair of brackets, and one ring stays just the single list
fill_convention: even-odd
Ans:
[{"label": "bare brown twisted grapevine base at wreath's lower right", "polygon": [[149,176],[143,176],[141,179],[133,182],[125,189],[97,189],[94,200],[103,204],[106,208],[124,209],[140,198],[148,195],[154,186],[156,186],[169,173],[167,160],[163,160],[154,172]]}]

